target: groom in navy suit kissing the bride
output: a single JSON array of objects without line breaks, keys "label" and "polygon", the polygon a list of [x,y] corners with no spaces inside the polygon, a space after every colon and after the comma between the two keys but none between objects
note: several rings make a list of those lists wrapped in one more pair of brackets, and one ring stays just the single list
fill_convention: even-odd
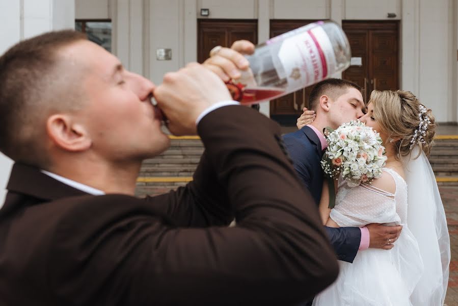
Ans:
[{"label": "groom in navy suit kissing the bride", "polygon": [[[321,198],[323,171],[320,161],[327,148],[322,131],[363,116],[364,101],[361,88],[350,81],[328,79],[315,85],[310,93],[309,108],[315,111],[313,123],[299,131],[283,136],[294,163],[294,168],[316,203]],[[298,122],[298,127],[300,123]],[[352,263],[358,250],[371,248],[391,249],[399,237],[402,226],[368,224],[358,227],[326,227],[331,243],[342,261]]]}]

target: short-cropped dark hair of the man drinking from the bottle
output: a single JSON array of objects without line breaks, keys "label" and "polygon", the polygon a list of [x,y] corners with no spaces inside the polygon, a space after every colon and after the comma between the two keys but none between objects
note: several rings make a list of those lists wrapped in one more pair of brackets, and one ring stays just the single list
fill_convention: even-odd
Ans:
[{"label": "short-cropped dark hair of the man drinking from the bottle", "polygon": [[45,162],[45,126],[37,125],[49,106],[62,108],[69,88],[77,86],[67,86],[71,71],[58,69],[63,63],[58,50],[83,39],[72,30],[49,32],[17,43],[0,57],[0,151],[14,161]]}]

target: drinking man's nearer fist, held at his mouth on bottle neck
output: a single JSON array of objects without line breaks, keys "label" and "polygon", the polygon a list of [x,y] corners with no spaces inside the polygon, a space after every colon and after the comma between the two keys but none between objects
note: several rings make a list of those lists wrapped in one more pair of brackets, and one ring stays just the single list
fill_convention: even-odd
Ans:
[{"label": "drinking man's nearer fist, held at his mouth on bottle neck", "polygon": [[197,63],[165,74],[163,83],[154,90],[154,97],[174,135],[197,134],[196,120],[205,109],[232,100],[218,75]]}]

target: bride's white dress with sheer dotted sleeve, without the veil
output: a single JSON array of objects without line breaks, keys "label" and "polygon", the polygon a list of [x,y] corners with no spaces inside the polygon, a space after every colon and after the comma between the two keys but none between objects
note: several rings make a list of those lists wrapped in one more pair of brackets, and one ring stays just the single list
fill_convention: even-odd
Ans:
[{"label": "bride's white dress with sheer dotted sleeve, without the veil", "polygon": [[394,170],[383,170],[393,177],[395,194],[369,184],[351,188],[339,179],[336,206],[330,217],[341,227],[402,224],[395,247],[360,251],[353,263],[339,261],[337,281],[318,294],[313,305],[412,305],[410,295],[423,273],[423,262],[407,226],[407,183]]}]

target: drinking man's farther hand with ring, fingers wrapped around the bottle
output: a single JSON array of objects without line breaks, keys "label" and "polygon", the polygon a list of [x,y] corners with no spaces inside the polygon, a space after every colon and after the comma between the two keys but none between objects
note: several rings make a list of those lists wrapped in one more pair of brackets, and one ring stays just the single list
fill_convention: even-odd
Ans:
[{"label": "drinking man's farther hand with ring, fingers wrapped around the bottle", "polygon": [[249,62],[244,54],[253,54],[254,44],[248,40],[237,40],[230,48],[220,47],[202,65],[210,69],[224,81],[240,78],[240,70],[248,69]]}]

